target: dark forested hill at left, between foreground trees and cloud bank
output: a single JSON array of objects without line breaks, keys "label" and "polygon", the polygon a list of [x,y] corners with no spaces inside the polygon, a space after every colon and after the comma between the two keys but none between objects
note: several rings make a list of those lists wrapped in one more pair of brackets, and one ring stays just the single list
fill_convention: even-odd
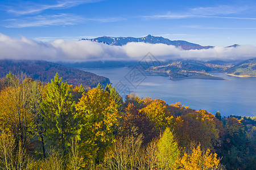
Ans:
[{"label": "dark forested hill at left, between foreground trees and cloud bank", "polygon": [[104,76],[74,69],[71,67],[59,65],[47,61],[31,61],[31,60],[0,60],[0,78],[4,77],[11,71],[12,73],[23,72],[28,77],[48,83],[56,73],[68,82],[75,86],[82,84],[85,87],[96,87],[98,83],[106,86],[110,81]]}]

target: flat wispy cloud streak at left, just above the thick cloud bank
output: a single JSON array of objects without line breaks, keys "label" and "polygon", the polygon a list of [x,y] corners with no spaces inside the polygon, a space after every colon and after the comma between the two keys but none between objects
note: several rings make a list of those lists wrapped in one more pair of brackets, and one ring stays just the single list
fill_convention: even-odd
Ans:
[{"label": "flat wispy cloud streak at left, just above the thick cloud bank", "polygon": [[7,28],[47,27],[49,25],[75,25],[85,19],[75,14],[36,15],[22,19],[7,19]]}]

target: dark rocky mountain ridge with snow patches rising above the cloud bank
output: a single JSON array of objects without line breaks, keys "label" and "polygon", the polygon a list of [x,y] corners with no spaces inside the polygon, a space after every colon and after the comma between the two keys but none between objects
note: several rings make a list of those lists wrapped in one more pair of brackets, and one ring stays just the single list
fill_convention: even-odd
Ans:
[{"label": "dark rocky mountain ridge with snow patches rising above the cloud bank", "polygon": [[164,37],[157,37],[157,36],[151,36],[151,35],[147,35],[146,37],[139,37],[139,38],[103,36],[103,37],[97,37],[95,39],[81,39],[81,40],[90,40],[94,42],[100,42],[103,44],[118,45],[118,46],[126,45],[128,42],[146,42],[151,44],[174,45],[184,50],[213,48],[213,46],[201,46],[199,44],[194,44],[192,42],[183,41],[183,40],[171,41]]}]

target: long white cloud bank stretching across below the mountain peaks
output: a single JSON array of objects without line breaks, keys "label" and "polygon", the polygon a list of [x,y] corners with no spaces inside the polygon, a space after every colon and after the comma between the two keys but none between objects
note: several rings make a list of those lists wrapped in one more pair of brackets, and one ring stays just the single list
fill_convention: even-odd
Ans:
[{"label": "long white cloud bank stretching across below the mountain peaks", "polygon": [[182,50],[172,45],[130,42],[110,46],[88,40],[55,40],[41,42],[21,37],[15,39],[0,33],[0,59],[43,59],[47,61],[140,60],[148,52],[158,59],[247,59],[256,57],[256,47],[236,48],[216,46],[211,49]]}]

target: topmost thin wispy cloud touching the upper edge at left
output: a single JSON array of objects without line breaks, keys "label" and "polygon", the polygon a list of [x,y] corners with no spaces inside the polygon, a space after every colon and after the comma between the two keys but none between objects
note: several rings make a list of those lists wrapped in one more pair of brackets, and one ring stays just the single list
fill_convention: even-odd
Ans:
[{"label": "topmost thin wispy cloud touching the upper edge at left", "polygon": [[48,9],[63,9],[63,8],[71,8],[74,6],[78,6],[85,3],[96,3],[104,0],[65,0],[65,1],[57,1],[51,5],[47,4],[38,4],[34,2],[26,2],[23,1],[22,5],[18,6],[6,6],[7,12],[16,14],[16,15],[28,15],[40,13],[44,10]]}]

